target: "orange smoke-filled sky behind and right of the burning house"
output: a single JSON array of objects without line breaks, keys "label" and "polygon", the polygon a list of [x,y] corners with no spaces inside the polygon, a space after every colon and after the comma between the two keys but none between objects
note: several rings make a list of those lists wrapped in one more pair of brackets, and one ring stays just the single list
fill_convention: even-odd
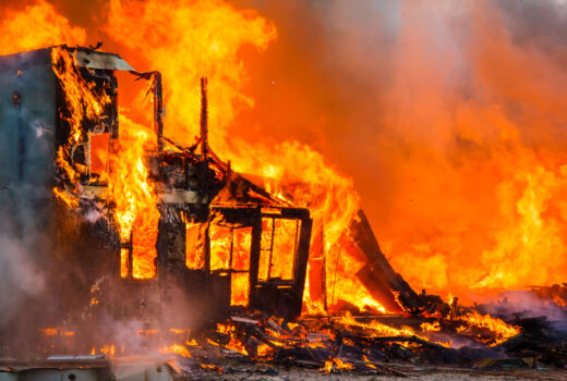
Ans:
[{"label": "orange smoke-filled sky behind and right of the burning house", "polygon": [[[88,44],[129,60],[129,36],[101,27],[107,0],[51,3]],[[239,52],[254,107],[239,108],[229,138],[323,152],[352,177],[386,255],[415,287],[562,279],[565,1],[231,3],[256,10],[277,38]]]}]

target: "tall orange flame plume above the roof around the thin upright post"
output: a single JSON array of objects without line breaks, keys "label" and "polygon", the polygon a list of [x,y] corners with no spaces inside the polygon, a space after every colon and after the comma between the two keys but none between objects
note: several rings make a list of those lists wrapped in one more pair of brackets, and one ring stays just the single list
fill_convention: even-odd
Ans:
[{"label": "tall orange flame plume above the roof around the thin upright post", "polygon": [[[208,77],[210,143],[225,151],[227,130],[237,111],[253,100],[241,89],[246,77],[238,52],[260,50],[276,28],[255,11],[237,11],[220,0],[111,0],[106,30],[162,73],[168,120],[166,135],[191,145],[198,134],[198,83]],[[123,39],[120,36],[129,36]]]}]

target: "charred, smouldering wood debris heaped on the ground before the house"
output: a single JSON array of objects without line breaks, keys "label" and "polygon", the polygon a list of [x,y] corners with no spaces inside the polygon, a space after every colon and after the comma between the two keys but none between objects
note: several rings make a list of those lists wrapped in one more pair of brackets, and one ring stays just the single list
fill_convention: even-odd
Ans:
[{"label": "charred, smouldering wood debris heaped on the ground before the house", "polygon": [[[449,316],[362,314],[291,322],[241,308],[225,321],[196,330],[170,330],[165,336],[159,331],[144,332],[143,349],[148,353],[160,342],[174,343],[169,345],[174,352],[171,364],[189,379],[273,377],[293,369],[394,377],[422,367],[480,372],[566,369],[565,323],[516,314],[507,322],[521,332],[499,342],[491,330],[460,319],[471,310],[458,306],[453,320]],[[436,329],[425,333],[424,324]]]}]

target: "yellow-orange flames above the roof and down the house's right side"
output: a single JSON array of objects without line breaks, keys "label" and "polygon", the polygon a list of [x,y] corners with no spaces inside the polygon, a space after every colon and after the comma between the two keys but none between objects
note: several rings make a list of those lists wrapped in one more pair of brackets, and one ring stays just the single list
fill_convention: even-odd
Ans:
[{"label": "yellow-orange flames above the roof and down the house's right side", "polygon": [[[164,19],[168,23],[162,23]],[[327,256],[326,271],[340,280],[327,287],[330,304],[340,298],[361,308],[384,310],[354,275],[363,261],[350,256],[341,244],[349,239],[347,228],[359,208],[352,181],[307,145],[288,142],[274,150],[262,142],[251,144],[229,135],[234,134],[234,115],[253,106],[253,99],[242,93],[248,73],[239,52],[246,45],[266,49],[276,38],[275,25],[254,11],[237,11],[222,1],[149,0],[133,7],[129,1],[112,0],[105,29],[111,37],[126,33],[129,38],[120,40],[140,53],[134,59],[162,73],[168,109],[165,134],[181,143],[192,144],[198,135],[197,84],[203,75],[209,78],[214,105],[210,144],[215,150],[230,158],[237,171],[262,175],[272,193],[310,208],[314,231],[325,237],[321,250]],[[317,255],[321,253],[313,256]],[[239,282],[236,275],[233,282],[244,285],[245,278]],[[321,297],[321,291],[318,294]],[[323,311],[321,302],[310,296],[307,291],[307,311]]]}]

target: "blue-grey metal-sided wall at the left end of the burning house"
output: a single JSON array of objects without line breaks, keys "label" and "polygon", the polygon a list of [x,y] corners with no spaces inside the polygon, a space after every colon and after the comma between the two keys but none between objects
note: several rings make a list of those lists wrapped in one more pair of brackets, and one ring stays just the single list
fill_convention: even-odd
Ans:
[{"label": "blue-grey metal-sided wall at the left end of the burning house", "polygon": [[26,245],[50,220],[57,112],[50,51],[0,57],[0,216],[11,216],[0,229],[16,228]]}]

